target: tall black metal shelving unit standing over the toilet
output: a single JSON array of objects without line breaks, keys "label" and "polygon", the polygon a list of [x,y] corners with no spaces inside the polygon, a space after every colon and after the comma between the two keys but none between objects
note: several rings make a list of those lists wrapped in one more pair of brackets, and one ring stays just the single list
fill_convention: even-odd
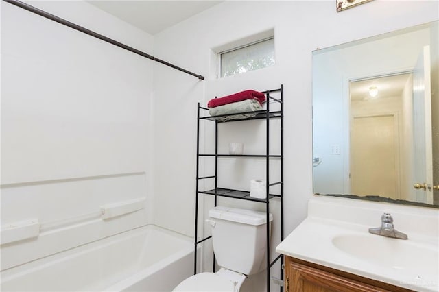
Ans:
[{"label": "tall black metal shelving unit standing over the toilet", "polygon": [[[281,84],[280,88],[274,89],[274,90],[266,90],[263,93],[265,93],[265,96],[267,97],[266,102],[266,110],[259,110],[257,112],[241,112],[239,114],[224,114],[224,115],[218,115],[218,116],[209,116],[209,108],[204,108],[200,106],[200,103],[198,103],[198,122],[197,122],[197,165],[196,165],[196,193],[195,193],[195,251],[194,251],[194,268],[193,273],[197,273],[197,247],[198,244],[206,241],[207,239],[210,239],[211,236],[207,236],[204,239],[198,240],[198,196],[200,194],[204,195],[213,195],[215,196],[215,206],[217,206],[217,197],[228,197],[233,199],[243,199],[253,202],[260,202],[265,204],[265,210],[267,214],[267,222],[269,222],[269,213],[270,213],[270,199],[274,197],[278,197],[281,202],[281,241],[283,240],[283,85]],[[281,98],[274,98],[272,97],[272,93],[280,93]],[[272,110],[270,111],[270,104],[277,103],[278,107],[280,106],[281,110]],[[278,108],[277,107],[277,108]],[[254,117],[247,117],[242,118],[242,114],[256,114]],[[227,121],[224,121],[224,117],[231,117],[231,119],[228,119]],[[239,121],[248,121],[248,120],[255,120],[255,119],[261,119],[265,120],[266,123],[266,148],[265,148],[265,154],[263,155],[230,155],[230,154],[218,154],[218,124],[219,123],[230,123],[230,122],[239,122]],[[281,154],[272,155],[270,154],[270,120],[272,119],[281,119]],[[215,123],[215,154],[200,154],[200,123],[202,121],[213,121]],[[210,176],[204,176],[200,177],[200,157],[202,156],[211,156],[215,158],[215,175]],[[221,188],[217,186],[217,165],[218,165],[218,158],[222,157],[239,157],[239,158],[265,158],[266,161],[266,193],[268,194],[267,198],[265,199],[257,199],[254,197],[250,197],[249,191],[242,191],[242,190],[235,190],[235,189],[229,189],[229,188]],[[281,178],[278,182],[270,182],[270,158],[277,158],[280,159],[280,173]],[[208,191],[200,191],[199,189],[199,182],[200,180],[206,180],[206,179],[214,179],[215,180],[215,188],[208,190]],[[274,195],[270,193],[270,188],[272,186],[280,186],[280,195]],[[278,261],[281,260],[281,280],[283,280],[283,273],[282,273],[282,265],[283,265],[283,256],[279,255],[274,260],[270,261],[270,225],[267,224],[267,291],[270,292],[270,269],[271,267]],[[213,271],[215,271],[215,255],[213,256]],[[281,287],[282,291],[282,287]]]}]

